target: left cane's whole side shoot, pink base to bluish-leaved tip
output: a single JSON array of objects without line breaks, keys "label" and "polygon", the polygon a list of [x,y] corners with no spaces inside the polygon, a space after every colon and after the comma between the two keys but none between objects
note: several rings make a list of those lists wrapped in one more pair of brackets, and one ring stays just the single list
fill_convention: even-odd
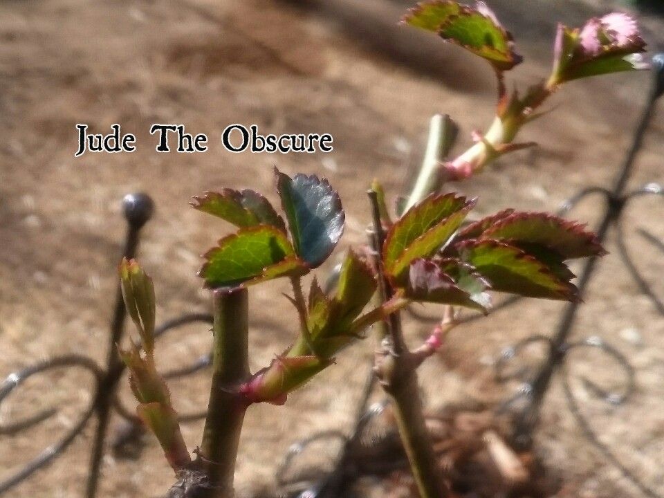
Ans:
[{"label": "left cane's whole side shoot, pink base to bluish-leaved tip", "polygon": [[275,180],[288,230],[269,201],[252,190],[206,192],[192,202],[195,209],[239,228],[205,254],[199,276],[206,286],[250,286],[277,277],[288,277],[293,284],[294,295],[288,298],[299,316],[299,338],[239,388],[249,403],[283,403],[390,307],[405,305],[396,300],[360,316],[377,284],[373,270],[353,251],[344,259],[335,294],[326,295],[314,278],[305,299],[301,278],[337,245],[344,210],[325,179],[304,174],[291,178],[275,169]]}]

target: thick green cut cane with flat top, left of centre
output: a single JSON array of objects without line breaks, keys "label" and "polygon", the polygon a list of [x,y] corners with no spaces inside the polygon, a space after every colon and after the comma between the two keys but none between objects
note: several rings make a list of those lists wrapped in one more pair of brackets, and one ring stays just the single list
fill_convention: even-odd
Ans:
[{"label": "thick green cut cane with flat top, left of centre", "polygon": [[216,289],[213,305],[212,387],[200,452],[211,488],[201,498],[233,498],[237,448],[247,409],[237,387],[250,377],[248,292]]}]

